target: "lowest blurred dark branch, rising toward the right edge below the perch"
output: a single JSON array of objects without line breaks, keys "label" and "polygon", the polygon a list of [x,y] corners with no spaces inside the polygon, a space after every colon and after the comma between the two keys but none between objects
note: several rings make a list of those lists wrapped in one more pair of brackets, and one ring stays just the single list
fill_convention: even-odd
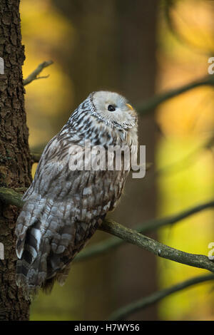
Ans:
[{"label": "lowest blurred dark branch, rising toward the right edge below the perch", "polygon": [[114,311],[111,316],[109,316],[109,320],[123,320],[128,315],[134,313],[135,311],[139,311],[140,309],[145,309],[151,304],[155,304],[157,301],[167,297],[170,294],[178,292],[182,289],[186,289],[187,287],[193,286],[195,284],[199,284],[202,282],[208,282],[209,280],[214,279],[214,274],[204,274],[203,276],[193,277],[191,279],[185,280],[185,282],[180,282],[179,284],[175,284],[172,287],[168,287],[167,289],[161,289],[148,297],[140,299],[138,301],[134,301],[131,304],[121,307],[120,309]]}]

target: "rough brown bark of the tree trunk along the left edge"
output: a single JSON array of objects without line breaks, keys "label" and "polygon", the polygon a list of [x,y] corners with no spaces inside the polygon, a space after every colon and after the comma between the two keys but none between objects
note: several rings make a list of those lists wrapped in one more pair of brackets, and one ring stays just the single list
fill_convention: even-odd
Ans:
[{"label": "rough brown bark of the tree trunk along the left edge", "polygon": [[[4,58],[4,74],[0,75],[0,186],[27,187],[31,183],[31,156],[24,110],[19,0],[0,0],[0,57]],[[4,260],[0,261],[1,320],[29,318],[29,302],[15,282],[14,227],[18,214],[17,207],[0,202],[0,242],[4,244]]]}]

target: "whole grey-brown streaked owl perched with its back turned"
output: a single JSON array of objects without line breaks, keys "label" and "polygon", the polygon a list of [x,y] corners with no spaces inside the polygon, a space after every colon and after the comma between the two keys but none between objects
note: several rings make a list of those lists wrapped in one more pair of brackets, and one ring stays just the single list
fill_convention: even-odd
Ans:
[{"label": "whole grey-brown streaked owl perched with its back turned", "polygon": [[[63,284],[71,262],[121,197],[130,168],[71,169],[72,148],[138,145],[137,115],[118,93],[91,93],[41,155],[16,222],[16,283],[31,299]],[[136,154],[135,154],[136,155]],[[85,155],[86,156],[86,155]],[[107,163],[106,163],[107,166]]]}]

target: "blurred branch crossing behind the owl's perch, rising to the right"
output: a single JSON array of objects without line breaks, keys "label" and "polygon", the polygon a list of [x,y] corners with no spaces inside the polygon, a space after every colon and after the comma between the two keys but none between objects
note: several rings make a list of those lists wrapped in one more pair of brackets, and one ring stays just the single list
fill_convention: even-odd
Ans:
[{"label": "blurred branch crossing behind the owl's perch, rising to the right", "polygon": [[[163,217],[162,219],[148,220],[143,224],[134,227],[134,229],[137,232],[141,233],[151,232],[152,230],[156,230],[157,228],[163,227],[165,225],[173,225],[174,223],[183,220],[190,215],[194,215],[195,213],[212,207],[214,207],[214,201],[205,202],[188,210],[179,212],[176,215]],[[76,255],[74,262],[83,261],[91,257],[105,254],[112,249],[120,247],[123,243],[125,243],[123,239],[118,239],[117,237],[110,237],[109,239],[107,239],[107,241],[98,242],[96,244],[93,244],[91,247],[86,247],[86,249],[83,249],[79,254]]]}]

